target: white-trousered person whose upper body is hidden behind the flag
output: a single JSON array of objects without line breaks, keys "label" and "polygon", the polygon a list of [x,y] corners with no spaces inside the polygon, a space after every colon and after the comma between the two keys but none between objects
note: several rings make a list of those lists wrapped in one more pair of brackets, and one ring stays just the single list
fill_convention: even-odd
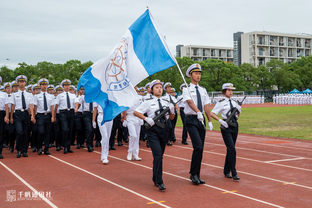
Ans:
[{"label": "white-trousered person whose upper body is hidden behind the flag", "polygon": [[103,109],[100,105],[98,105],[96,102],[93,102],[93,117],[92,117],[92,125],[93,128],[96,128],[96,123],[95,123],[95,117],[96,114],[98,114],[98,125],[100,128],[100,132],[102,135],[101,139],[101,146],[102,146],[102,152],[101,152],[101,161],[102,163],[108,163],[108,151],[109,151],[109,142],[110,142],[110,134],[111,134],[111,129],[113,126],[113,120],[105,122],[103,125],[101,125],[103,121]]}]

